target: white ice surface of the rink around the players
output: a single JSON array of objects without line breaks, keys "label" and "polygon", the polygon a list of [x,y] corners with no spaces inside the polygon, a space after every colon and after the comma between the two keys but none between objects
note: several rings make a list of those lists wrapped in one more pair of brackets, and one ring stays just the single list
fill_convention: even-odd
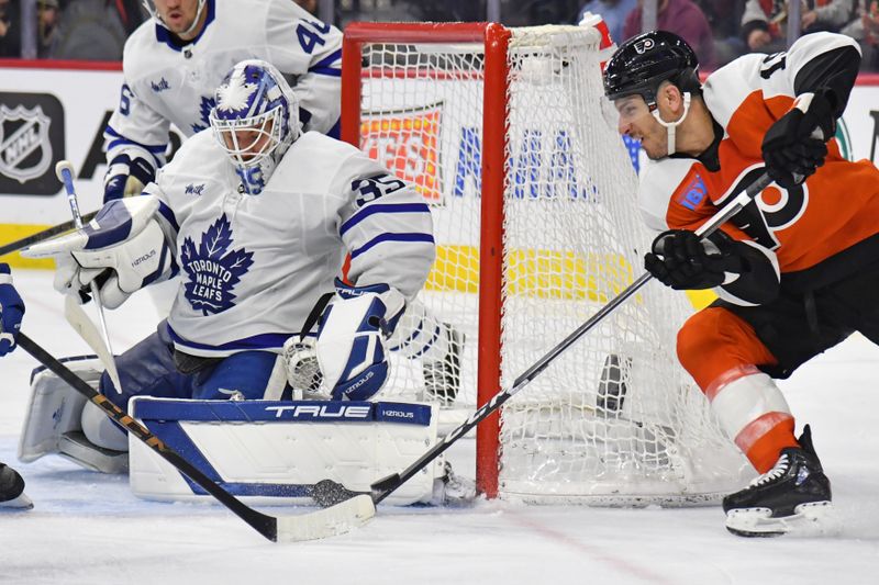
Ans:
[{"label": "white ice surface of the rink around the players", "polygon": [[[14,274],[23,330],[55,356],[89,352],[63,316],[47,272]],[[650,284],[655,285],[655,284]],[[114,349],[156,323],[135,295],[109,312]],[[342,537],[272,544],[219,505],[135,498],[125,477],[56,457],[15,461],[35,367],[23,350],[0,361],[0,461],[35,503],[0,513],[0,584],[868,584],[879,570],[879,348],[860,336],[782,383],[834,486],[845,528],[832,539],[741,539],[720,508],[597,509],[480,502],[469,509],[387,508]],[[523,390],[523,395],[527,389]],[[452,450],[472,473],[472,441]],[[272,508],[271,514],[294,514]]]}]

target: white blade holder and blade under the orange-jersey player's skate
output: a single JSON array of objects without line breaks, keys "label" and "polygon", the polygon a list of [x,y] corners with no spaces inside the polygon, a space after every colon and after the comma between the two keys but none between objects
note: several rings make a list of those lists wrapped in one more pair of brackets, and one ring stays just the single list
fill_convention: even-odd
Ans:
[{"label": "white blade holder and blade under the orange-jersey player's skate", "polygon": [[771,517],[769,508],[730,510],[726,529],[739,537],[832,537],[842,530],[842,522],[830,502],[800,504],[791,516]]}]

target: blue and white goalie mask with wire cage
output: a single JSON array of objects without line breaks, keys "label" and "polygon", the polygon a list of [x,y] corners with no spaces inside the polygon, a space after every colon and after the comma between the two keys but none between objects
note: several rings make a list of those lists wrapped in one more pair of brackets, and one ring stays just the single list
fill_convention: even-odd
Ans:
[{"label": "blue and white goalie mask with wire cage", "polygon": [[280,71],[257,59],[233,67],[215,99],[214,137],[232,159],[243,191],[258,194],[299,137],[299,101]]}]

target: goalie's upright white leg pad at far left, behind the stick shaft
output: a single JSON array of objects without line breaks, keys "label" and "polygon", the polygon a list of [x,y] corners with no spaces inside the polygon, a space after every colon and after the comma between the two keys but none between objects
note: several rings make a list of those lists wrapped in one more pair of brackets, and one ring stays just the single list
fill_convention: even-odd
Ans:
[{"label": "goalie's upright white leg pad at far left, behind the stick shaft", "polygon": [[[98,358],[80,356],[60,361],[92,387],[98,387],[103,371]],[[65,432],[82,429],[81,415],[87,402],[85,396],[47,369],[34,370],[31,400],[19,440],[19,459],[30,462],[57,453]]]}]

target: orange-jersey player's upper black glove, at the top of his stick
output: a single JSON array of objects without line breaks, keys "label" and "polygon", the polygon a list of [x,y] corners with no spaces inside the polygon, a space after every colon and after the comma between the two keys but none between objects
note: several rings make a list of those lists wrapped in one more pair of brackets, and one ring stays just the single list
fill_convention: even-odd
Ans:
[{"label": "orange-jersey player's upper black glove, at the top of his stick", "polygon": [[826,90],[799,95],[793,108],[766,132],[763,159],[769,177],[779,185],[789,189],[800,184],[824,164],[826,142],[836,132],[831,97]]}]

